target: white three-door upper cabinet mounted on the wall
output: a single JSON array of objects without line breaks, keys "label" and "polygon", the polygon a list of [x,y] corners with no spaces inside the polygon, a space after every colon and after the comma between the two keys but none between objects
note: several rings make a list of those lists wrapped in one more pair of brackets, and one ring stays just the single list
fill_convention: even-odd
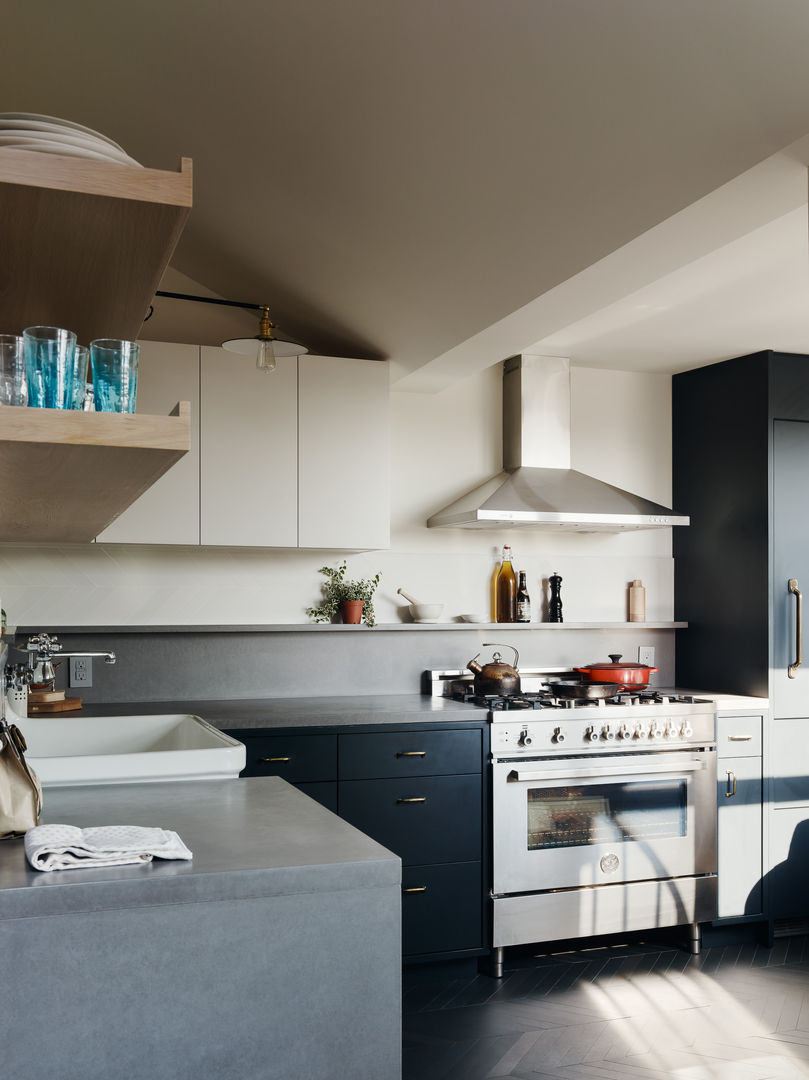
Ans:
[{"label": "white three-door upper cabinet mounted on the wall", "polygon": [[283,356],[274,372],[203,346],[140,345],[137,409],[191,403],[191,450],[103,543],[390,544],[388,365]]}]

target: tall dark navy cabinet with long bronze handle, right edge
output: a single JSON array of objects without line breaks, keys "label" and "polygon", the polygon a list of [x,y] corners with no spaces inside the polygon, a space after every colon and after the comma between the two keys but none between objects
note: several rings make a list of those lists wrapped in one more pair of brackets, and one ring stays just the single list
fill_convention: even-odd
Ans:
[{"label": "tall dark navy cabinet with long bronze handle, right edge", "polygon": [[809,652],[795,664],[809,593],[809,356],[758,352],[676,375],[673,432],[674,504],[691,516],[674,530],[675,618],[689,624],[677,685],[769,698],[765,907],[806,917]]}]

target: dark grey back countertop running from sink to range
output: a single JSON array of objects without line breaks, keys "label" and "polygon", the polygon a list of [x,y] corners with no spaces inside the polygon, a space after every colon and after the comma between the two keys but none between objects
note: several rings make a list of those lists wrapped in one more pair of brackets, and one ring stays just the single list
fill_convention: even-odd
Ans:
[{"label": "dark grey back countertop running from sink to range", "polygon": [[83,716],[192,713],[221,729],[320,728],[362,725],[485,723],[485,708],[420,693],[243,701],[135,701],[85,705]]}]

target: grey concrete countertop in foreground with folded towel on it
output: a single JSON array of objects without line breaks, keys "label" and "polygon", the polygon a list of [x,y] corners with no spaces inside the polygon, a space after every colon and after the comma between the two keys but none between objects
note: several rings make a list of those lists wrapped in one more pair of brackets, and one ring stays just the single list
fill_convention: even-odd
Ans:
[{"label": "grey concrete countertop in foreground with folded towel on it", "polygon": [[173,829],[190,862],[42,873],[0,845],[0,921],[397,883],[401,862],[278,777],[50,788],[42,823]]}]

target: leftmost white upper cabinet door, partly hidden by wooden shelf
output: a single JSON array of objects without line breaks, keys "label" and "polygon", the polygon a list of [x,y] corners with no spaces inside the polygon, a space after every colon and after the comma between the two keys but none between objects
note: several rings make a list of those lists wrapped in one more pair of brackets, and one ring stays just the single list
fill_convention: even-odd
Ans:
[{"label": "leftmost white upper cabinet door, partly hidden by wooden shelf", "polygon": [[188,454],[98,534],[99,543],[200,542],[199,346],[141,341],[137,411],[167,416],[179,401],[191,403]]}]

